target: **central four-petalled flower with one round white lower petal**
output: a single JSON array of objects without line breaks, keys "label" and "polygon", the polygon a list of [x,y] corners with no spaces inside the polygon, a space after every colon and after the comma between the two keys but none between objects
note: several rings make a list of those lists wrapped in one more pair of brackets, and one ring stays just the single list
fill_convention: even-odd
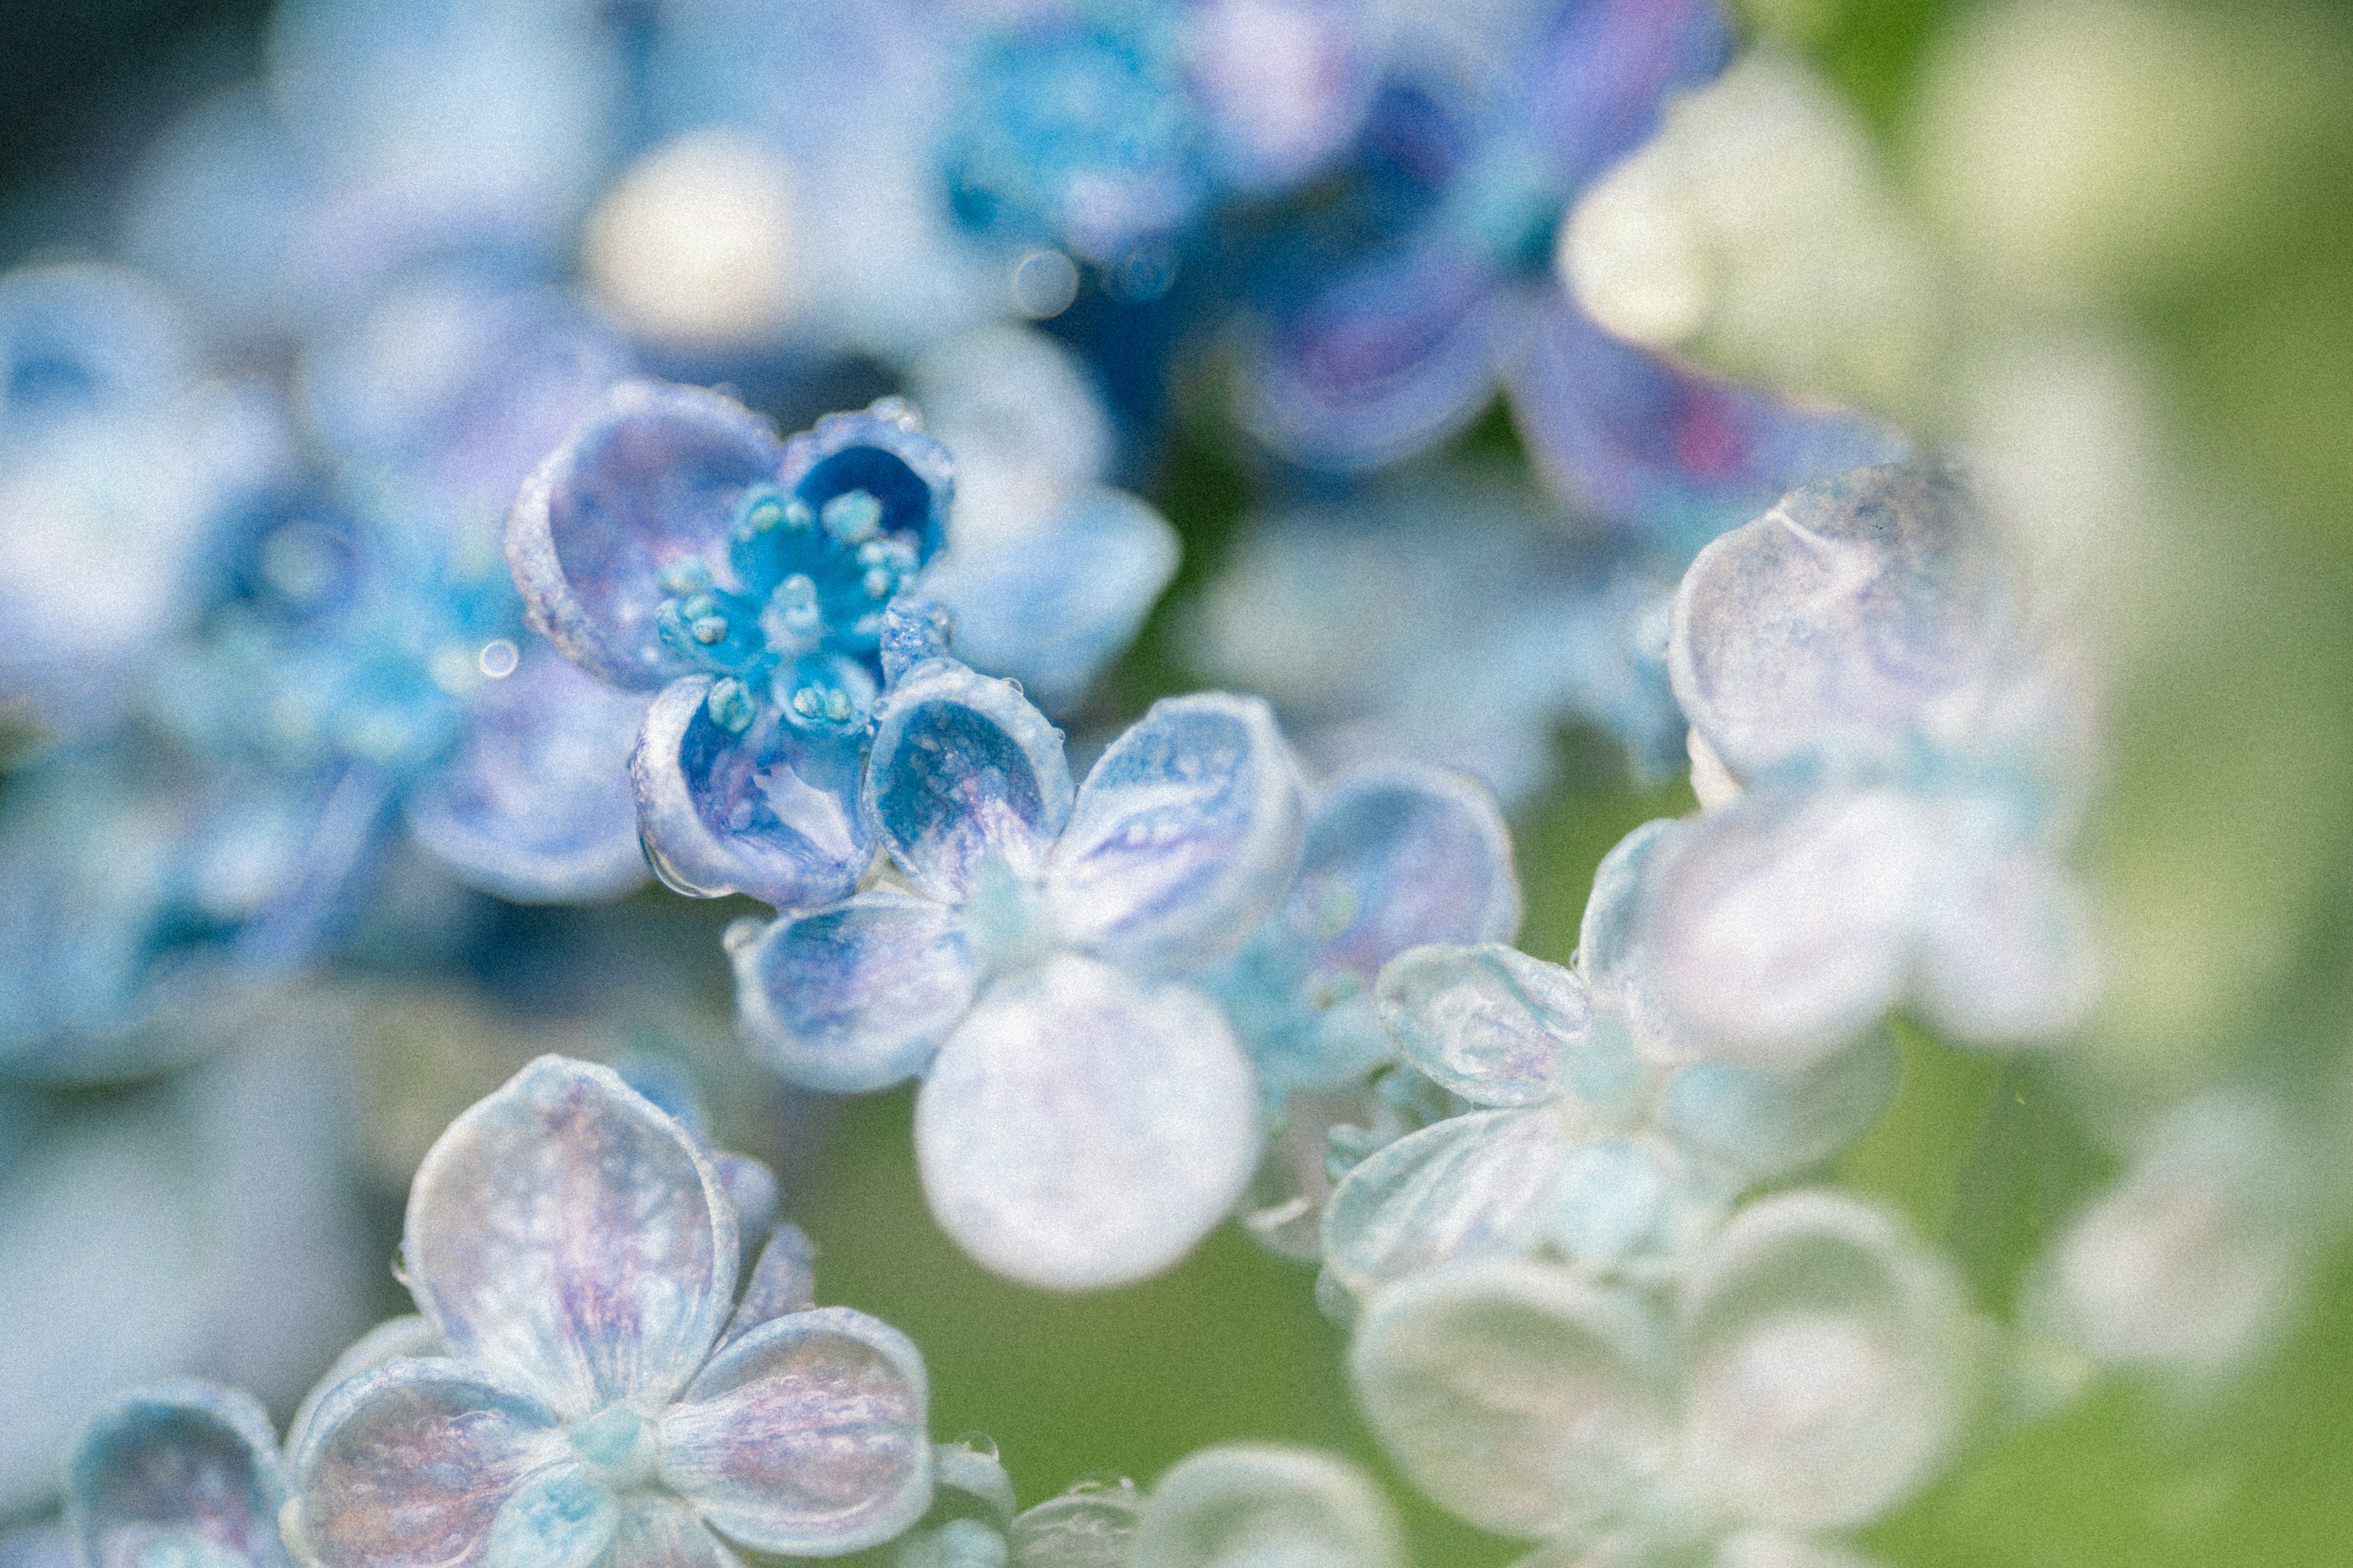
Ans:
[{"label": "central four-petalled flower with one round white lower petal", "polygon": [[894,882],[729,933],[744,1030],[795,1084],[922,1074],[941,1225],[1040,1286],[1139,1279],[1235,1201],[1259,1091],[1188,976],[1289,886],[1304,804],[1254,698],[1167,698],[1071,788],[1061,736],[951,658],[875,715],[861,816]]}]

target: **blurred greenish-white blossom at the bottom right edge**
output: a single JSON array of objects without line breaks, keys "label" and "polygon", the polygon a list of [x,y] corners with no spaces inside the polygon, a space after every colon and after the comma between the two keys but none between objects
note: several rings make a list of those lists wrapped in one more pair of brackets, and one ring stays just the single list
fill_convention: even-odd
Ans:
[{"label": "blurred greenish-white blossom at the bottom right edge", "polygon": [[1666,1309],[1485,1260],[1384,1295],[1348,1352],[1407,1479],[1560,1561],[1852,1563],[1969,1410],[1958,1281],[1854,1199],[1732,1220]]}]

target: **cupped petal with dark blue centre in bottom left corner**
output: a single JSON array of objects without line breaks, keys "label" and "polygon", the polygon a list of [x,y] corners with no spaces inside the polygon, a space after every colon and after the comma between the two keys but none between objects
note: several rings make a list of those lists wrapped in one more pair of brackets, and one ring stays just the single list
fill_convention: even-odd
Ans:
[{"label": "cupped petal with dark blue centre in bottom left corner", "polygon": [[89,1568],[144,1561],[165,1533],[247,1568],[285,1568],[285,1476],[271,1418],[249,1394],[165,1382],[89,1413],[66,1455],[66,1530]]}]

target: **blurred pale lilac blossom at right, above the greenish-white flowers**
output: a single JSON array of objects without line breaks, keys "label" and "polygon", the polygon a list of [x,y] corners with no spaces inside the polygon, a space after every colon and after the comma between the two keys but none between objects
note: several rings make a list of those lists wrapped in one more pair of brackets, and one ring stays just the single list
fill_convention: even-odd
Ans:
[{"label": "blurred pale lilac blossom at right, above the greenish-white flowers", "polygon": [[1986,1044],[2085,1013],[2087,698],[1953,475],[1866,468],[1708,545],[1668,672],[1715,806],[1657,870],[1671,1011],[1786,1065],[1901,1001]]}]

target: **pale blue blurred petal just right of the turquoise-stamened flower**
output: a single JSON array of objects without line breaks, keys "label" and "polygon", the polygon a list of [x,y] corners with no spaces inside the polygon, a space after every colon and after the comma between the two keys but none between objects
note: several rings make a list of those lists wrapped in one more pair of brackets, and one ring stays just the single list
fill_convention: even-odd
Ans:
[{"label": "pale blue blurred petal just right of the turquoise-stamened flower", "polygon": [[1078,491],[1019,538],[958,541],[922,590],[955,611],[958,656],[1047,712],[1078,705],[1176,576],[1176,529],[1127,491]]}]

